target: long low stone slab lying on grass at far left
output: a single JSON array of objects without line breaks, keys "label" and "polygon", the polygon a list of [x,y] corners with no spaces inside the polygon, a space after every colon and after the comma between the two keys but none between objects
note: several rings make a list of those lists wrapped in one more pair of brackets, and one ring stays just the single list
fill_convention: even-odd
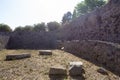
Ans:
[{"label": "long low stone slab lying on grass at far left", "polygon": [[24,58],[30,58],[31,54],[29,53],[23,53],[23,54],[8,54],[6,55],[6,60],[16,60],[16,59],[24,59]]}]

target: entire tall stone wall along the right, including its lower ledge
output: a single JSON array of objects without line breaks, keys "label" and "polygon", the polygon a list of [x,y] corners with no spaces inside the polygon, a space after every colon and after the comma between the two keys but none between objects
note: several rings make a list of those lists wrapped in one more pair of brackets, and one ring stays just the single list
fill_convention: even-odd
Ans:
[{"label": "entire tall stone wall along the right, including its lower ledge", "polygon": [[65,51],[120,74],[120,0],[64,26]]}]

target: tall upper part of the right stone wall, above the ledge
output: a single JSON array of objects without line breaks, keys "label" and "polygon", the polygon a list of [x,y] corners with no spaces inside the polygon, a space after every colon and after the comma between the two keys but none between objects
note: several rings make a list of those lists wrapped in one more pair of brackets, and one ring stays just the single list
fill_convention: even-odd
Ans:
[{"label": "tall upper part of the right stone wall, above the ledge", "polygon": [[66,40],[104,40],[120,43],[120,1],[82,15],[63,29]]}]

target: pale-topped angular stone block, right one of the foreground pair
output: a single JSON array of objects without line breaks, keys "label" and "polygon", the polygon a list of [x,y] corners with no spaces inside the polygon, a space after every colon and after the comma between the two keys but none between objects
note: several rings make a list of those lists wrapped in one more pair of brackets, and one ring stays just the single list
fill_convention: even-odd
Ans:
[{"label": "pale-topped angular stone block, right one of the foreground pair", "polygon": [[69,63],[69,75],[78,76],[82,75],[84,72],[82,62],[70,62]]}]

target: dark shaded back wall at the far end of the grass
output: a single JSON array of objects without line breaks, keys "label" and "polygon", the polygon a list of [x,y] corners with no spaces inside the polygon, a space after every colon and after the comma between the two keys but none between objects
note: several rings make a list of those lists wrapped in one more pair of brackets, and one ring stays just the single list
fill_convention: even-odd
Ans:
[{"label": "dark shaded back wall at the far end of the grass", "polygon": [[13,32],[8,49],[54,49],[56,37],[54,32]]}]

